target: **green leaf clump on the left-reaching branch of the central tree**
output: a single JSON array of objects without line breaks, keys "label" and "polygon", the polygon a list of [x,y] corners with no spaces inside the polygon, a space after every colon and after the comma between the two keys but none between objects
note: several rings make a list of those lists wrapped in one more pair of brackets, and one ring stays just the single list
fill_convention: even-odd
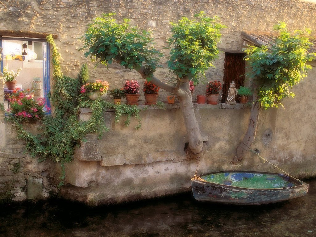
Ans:
[{"label": "green leaf clump on the left-reaching branch of the central tree", "polygon": [[119,60],[125,68],[137,69],[145,66],[146,75],[151,75],[162,57],[154,47],[150,33],[132,27],[129,19],[122,23],[113,19],[115,13],[103,14],[89,24],[84,35],[85,56],[107,65]]}]

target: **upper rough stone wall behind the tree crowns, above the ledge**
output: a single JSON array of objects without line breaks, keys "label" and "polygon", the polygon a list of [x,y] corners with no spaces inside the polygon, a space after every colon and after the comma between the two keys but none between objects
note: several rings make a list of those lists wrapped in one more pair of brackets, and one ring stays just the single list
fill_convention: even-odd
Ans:
[{"label": "upper rough stone wall behind the tree crowns, above the ledge", "polygon": [[[115,63],[108,70],[102,66],[94,70],[83,52],[78,52],[82,46],[79,38],[95,16],[115,12],[118,20],[130,18],[132,25],[152,31],[156,46],[162,50],[170,36],[169,21],[177,21],[182,16],[191,17],[202,10],[219,16],[227,26],[222,31],[222,52],[214,64],[216,68],[207,73],[208,81],[222,81],[224,52],[241,52],[244,47],[240,36],[242,30],[271,31],[278,21],[285,21],[289,29],[313,29],[316,23],[315,3],[299,0],[12,0],[0,3],[0,29],[56,33],[56,44],[63,58],[62,70],[67,76],[76,77],[82,63],[87,62],[92,80],[101,78],[107,80],[111,88],[121,88],[125,80],[135,79],[141,84],[143,80],[137,72],[123,70]],[[167,55],[166,50],[162,51]],[[163,58],[163,66],[166,66],[166,60]],[[164,79],[170,75],[168,70],[160,69],[156,76]],[[193,96],[204,91],[205,86],[198,85]],[[161,97],[166,95],[161,91]]]}]

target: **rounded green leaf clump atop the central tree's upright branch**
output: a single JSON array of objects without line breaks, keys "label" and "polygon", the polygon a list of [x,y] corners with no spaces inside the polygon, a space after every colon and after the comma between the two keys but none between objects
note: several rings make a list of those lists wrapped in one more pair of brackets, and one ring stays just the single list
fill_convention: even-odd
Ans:
[{"label": "rounded green leaf clump atop the central tree's upright branch", "polygon": [[195,17],[196,20],[182,17],[171,23],[173,35],[168,40],[171,47],[168,67],[179,78],[188,76],[198,83],[201,75],[205,76],[205,71],[213,66],[212,61],[219,53],[220,30],[225,26],[216,22],[217,17],[207,17],[204,12]]}]

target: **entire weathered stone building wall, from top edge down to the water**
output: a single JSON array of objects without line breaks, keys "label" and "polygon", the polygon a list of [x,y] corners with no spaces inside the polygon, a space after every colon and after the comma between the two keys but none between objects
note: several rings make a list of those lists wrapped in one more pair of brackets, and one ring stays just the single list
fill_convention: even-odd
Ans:
[{"label": "entire weathered stone building wall, from top edge down to the water", "polygon": [[[241,52],[244,47],[242,30],[270,32],[278,21],[285,21],[291,30],[305,27],[314,30],[315,9],[314,3],[298,0],[10,0],[0,2],[0,30],[20,29],[58,34],[55,42],[63,58],[61,66],[64,75],[76,77],[82,63],[87,62],[91,80],[100,78],[107,80],[111,88],[121,88],[125,80],[139,80],[141,85],[143,80],[137,72],[122,69],[115,63],[108,70],[102,66],[93,69],[93,64],[84,57],[83,52],[78,52],[82,46],[79,38],[84,34],[87,24],[97,15],[116,12],[120,20],[130,18],[132,25],[153,32],[161,50],[170,35],[169,21],[177,21],[181,16],[191,17],[201,10],[219,16],[220,21],[227,26],[222,31],[222,52],[214,63],[216,68],[210,69],[206,76],[208,81],[222,81],[225,52]],[[163,52],[167,55],[166,50]],[[159,69],[156,76],[168,80],[170,75],[167,69]],[[262,113],[257,140],[253,145],[284,170],[305,178],[315,176],[316,170],[313,133],[316,118],[315,76],[313,67],[307,79],[295,88],[296,98],[284,101],[286,110],[270,109]],[[2,85],[0,100],[3,99],[1,91]],[[204,93],[205,85],[199,84],[193,98]],[[160,94],[160,99],[164,100],[167,93],[161,91]],[[230,163],[234,149],[246,131],[249,108],[202,106],[197,107],[196,112],[201,130],[208,137],[208,152],[201,161],[201,172],[224,169],[270,170],[253,155],[239,166]],[[184,154],[185,128],[178,108],[142,112],[143,127],[139,131],[134,131],[133,125],[128,128],[123,124],[114,125],[112,116],[112,112],[106,113],[110,132],[101,141],[93,137],[90,139],[100,148],[99,160],[84,161],[77,155],[75,161],[67,166],[66,182],[70,186],[62,189],[64,195],[96,204],[102,200],[120,202],[189,189],[189,178],[194,174],[196,164],[195,161],[187,161]],[[58,169],[54,164],[37,163],[28,155],[23,155],[23,142],[15,139],[14,126],[5,123],[3,118],[0,112],[0,132],[4,138],[0,140],[2,193],[14,194],[15,200],[25,200],[26,180],[31,177],[43,179],[43,191],[47,196],[48,191],[54,190],[51,184],[54,183],[53,179],[59,177]],[[265,137],[270,131],[269,142]],[[111,141],[114,137],[119,140]],[[145,138],[149,138],[149,141]],[[19,161],[20,172],[13,174],[13,165]]]}]

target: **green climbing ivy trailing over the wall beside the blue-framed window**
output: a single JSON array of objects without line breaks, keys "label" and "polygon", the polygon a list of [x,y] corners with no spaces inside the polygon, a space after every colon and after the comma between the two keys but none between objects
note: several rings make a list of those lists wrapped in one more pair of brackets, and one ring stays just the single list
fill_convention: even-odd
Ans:
[{"label": "green climbing ivy trailing over the wall beside the blue-framed window", "polygon": [[[80,94],[81,86],[88,80],[88,69],[83,65],[78,78],[64,76],[60,68],[60,54],[57,51],[52,35],[47,36],[47,42],[52,48],[52,65],[54,86],[48,95],[54,106],[53,116],[44,117],[41,122],[39,134],[32,134],[25,130],[24,124],[19,123],[15,116],[10,119],[15,123],[18,138],[26,141],[26,149],[32,157],[39,157],[38,161],[45,161],[47,158],[60,163],[62,168],[60,187],[64,184],[65,163],[71,162],[74,156],[74,148],[80,146],[84,136],[89,132],[99,134],[108,131],[103,119],[103,112],[106,108],[114,108],[115,122],[117,123],[122,115],[127,115],[125,124],[129,124],[132,115],[139,121],[140,110],[136,106],[120,105],[115,106],[103,100],[90,101]],[[77,119],[79,107],[90,107],[92,117],[86,122]]]}]

